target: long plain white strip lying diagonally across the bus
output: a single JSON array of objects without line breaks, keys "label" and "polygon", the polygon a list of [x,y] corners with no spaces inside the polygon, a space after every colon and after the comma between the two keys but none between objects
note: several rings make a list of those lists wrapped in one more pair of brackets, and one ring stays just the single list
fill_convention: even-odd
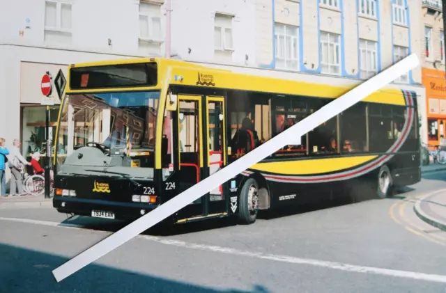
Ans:
[{"label": "long plain white strip lying diagonally across the bus", "polygon": [[[76,271],[79,271],[79,269],[82,269],[86,265],[97,260],[102,255],[109,253],[110,251],[114,250],[114,248],[121,246],[133,237],[141,234],[141,232],[144,232],[153,225],[156,225],[160,221],[166,219],[171,214],[178,212],[178,210],[182,209],[186,205],[189,205],[194,200],[197,200],[197,198],[200,198],[206,192],[215,189],[228,180],[231,180],[231,178],[237,174],[242,173],[250,166],[253,166],[261,161],[261,159],[268,157],[270,154],[276,150],[279,150],[279,148],[282,148],[284,145],[294,143],[295,137],[300,137],[317,127],[321,122],[337,116],[337,114],[345,111],[357,102],[360,102],[364,98],[376,92],[376,90],[383,88],[419,64],[420,61],[418,60],[416,54],[410,54],[406,58],[403,58],[403,60],[390,66],[390,68],[376,74],[374,77],[371,77],[371,79],[356,86],[352,90],[349,90],[348,93],[345,93],[344,95],[341,95],[341,97],[334,99],[329,104],[326,104],[318,111],[298,122],[296,125],[293,125],[281,134],[278,134],[277,136],[266,141],[266,143],[263,143],[258,148],[248,152],[246,155],[240,157],[226,168],[222,168],[220,171],[217,171],[198,184],[193,185],[186,191],[181,192],[171,200],[168,200],[166,203],[160,205],[160,207],[157,207],[152,212],[141,216],[139,219],[126,225],[121,230],[118,230],[109,237],[102,239],[100,242],[98,242],[98,244],[95,244],[86,249],[86,251],[79,253],[71,260],[68,260],[68,262],[54,269],[52,271],[54,278],[57,282],[60,282],[64,278],[74,274]],[[165,86],[169,84],[170,70],[171,68],[168,69]],[[165,90],[167,90],[167,88],[163,88],[163,95],[165,95]],[[291,132],[293,132],[293,134],[291,134]]]}]

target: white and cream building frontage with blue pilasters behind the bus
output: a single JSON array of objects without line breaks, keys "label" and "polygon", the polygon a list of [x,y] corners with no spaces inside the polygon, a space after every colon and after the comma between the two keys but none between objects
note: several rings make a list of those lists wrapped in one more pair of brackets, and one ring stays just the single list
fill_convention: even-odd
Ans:
[{"label": "white and cream building frontage with blue pilasters behind the bus", "polygon": [[[168,1],[0,4],[0,136],[8,145],[20,138],[24,155],[42,146],[41,78],[70,63],[168,54],[238,72],[357,84],[402,56],[420,56],[422,47],[419,0],[170,0],[171,9]],[[421,82],[417,68],[393,86],[417,91],[426,141]]]}]

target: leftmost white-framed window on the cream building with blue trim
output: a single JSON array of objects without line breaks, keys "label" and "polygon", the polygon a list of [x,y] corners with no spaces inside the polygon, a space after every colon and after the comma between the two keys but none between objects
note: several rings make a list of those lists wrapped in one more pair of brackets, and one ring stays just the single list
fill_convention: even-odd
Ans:
[{"label": "leftmost white-framed window on the cream building with blue trim", "polygon": [[[277,66],[276,65],[276,68],[277,69],[282,69],[282,70],[298,71],[299,70],[299,45],[300,45],[299,44],[299,27],[298,26],[291,26],[289,24],[282,24],[282,23],[279,23],[279,22],[276,22],[274,25],[275,25],[275,27],[276,26],[283,26],[283,29],[284,29],[284,33],[277,33],[277,29],[275,29],[275,31],[274,31],[274,38],[275,38],[275,44],[276,44],[276,48],[275,48],[274,54],[275,54],[276,61],[277,61],[277,59],[279,59],[280,61],[284,61],[284,64],[285,64],[284,66]],[[287,28],[295,29],[297,34],[296,35],[287,34],[287,31],[286,31]],[[279,56],[279,52],[280,52],[280,49],[279,49],[279,44],[280,44],[279,37],[281,37],[281,36],[284,37],[284,56]],[[287,58],[286,57],[286,48],[287,48],[287,45],[288,45],[287,42],[286,42],[287,37],[289,37],[290,41],[291,41],[291,47],[290,47],[291,58]],[[294,41],[296,42],[295,51],[293,50],[293,42]],[[293,55],[295,55],[295,58],[293,57]],[[295,62],[297,64],[296,67],[292,68],[292,67],[287,66],[287,62],[288,61]]]}]

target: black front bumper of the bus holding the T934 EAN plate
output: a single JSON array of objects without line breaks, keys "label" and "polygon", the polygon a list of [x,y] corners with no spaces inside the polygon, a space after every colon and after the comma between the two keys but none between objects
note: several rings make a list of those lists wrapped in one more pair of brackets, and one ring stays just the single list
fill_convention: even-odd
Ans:
[{"label": "black front bumper of the bus holding the T934 EAN plate", "polygon": [[121,203],[106,200],[54,196],[53,207],[63,214],[134,221],[158,207],[153,203]]}]

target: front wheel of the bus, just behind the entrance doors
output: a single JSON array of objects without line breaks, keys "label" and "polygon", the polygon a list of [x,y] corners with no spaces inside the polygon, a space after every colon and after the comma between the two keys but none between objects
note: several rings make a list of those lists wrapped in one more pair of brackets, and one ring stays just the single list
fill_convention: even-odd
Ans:
[{"label": "front wheel of the bus, just behind the entrance doors", "polygon": [[256,221],[259,213],[259,184],[254,178],[248,178],[240,191],[238,223],[249,225]]}]

